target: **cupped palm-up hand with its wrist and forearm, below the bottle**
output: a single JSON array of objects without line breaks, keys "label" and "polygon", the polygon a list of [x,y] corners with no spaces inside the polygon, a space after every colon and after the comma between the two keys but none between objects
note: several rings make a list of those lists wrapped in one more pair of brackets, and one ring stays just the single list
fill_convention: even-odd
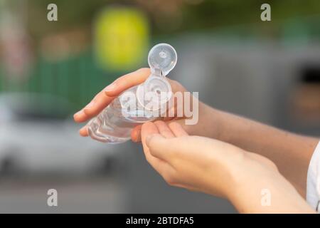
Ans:
[{"label": "cupped palm-up hand with its wrist and forearm, below the bottle", "polygon": [[178,123],[163,121],[142,125],[142,145],[146,160],[169,185],[225,197],[239,212],[314,212],[261,155],[188,136]]}]

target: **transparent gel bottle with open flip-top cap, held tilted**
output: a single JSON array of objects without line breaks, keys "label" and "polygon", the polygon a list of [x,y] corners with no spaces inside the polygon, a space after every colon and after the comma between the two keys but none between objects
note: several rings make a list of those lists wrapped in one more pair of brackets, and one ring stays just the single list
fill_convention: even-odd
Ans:
[{"label": "transparent gel bottle with open flip-top cap, held tilted", "polygon": [[[151,74],[144,83],[125,90],[87,124],[90,137],[107,143],[130,139],[132,128],[156,119],[166,111],[171,86],[166,75],[176,66],[176,50],[159,43],[149,51]],[[148,94],[149,96],[146,96]],[[150,96],[151,95],[151,96]],[[133,104],[134,108],[128,108]]]}]

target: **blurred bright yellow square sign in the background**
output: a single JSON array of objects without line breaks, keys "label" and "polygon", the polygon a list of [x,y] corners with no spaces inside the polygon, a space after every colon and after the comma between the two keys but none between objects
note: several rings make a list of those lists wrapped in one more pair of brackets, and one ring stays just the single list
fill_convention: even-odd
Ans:
[{"label": "blurred bright yellow square sign in the background", "polygon": [[136,68],[146,58],[149,24],[141,11],[107,8],[95,21],[95,53],[100,67],[108,71]]}]

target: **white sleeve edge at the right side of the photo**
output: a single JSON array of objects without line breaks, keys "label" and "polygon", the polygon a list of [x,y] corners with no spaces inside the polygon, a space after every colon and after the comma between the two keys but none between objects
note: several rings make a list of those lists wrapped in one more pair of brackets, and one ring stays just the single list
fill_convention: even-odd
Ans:
[{"label": "white sleeve edge at the right side of the photo", "polygon": [[306,202],[320,212],[320,142],[311,157],[306,176]]}]

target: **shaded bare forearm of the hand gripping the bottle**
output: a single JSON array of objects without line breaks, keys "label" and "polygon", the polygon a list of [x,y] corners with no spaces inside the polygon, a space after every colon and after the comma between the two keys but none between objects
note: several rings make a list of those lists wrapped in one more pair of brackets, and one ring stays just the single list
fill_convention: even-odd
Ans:
[{"label": "shaded bare forearm of the hand gripping the bottle", "polygon": [[305,195],[306,172],[319,139],[272,128],[238,115],[199,104],[199,122],[187,126],[193,135],[229,142],[272,160],[301,195]]}]

